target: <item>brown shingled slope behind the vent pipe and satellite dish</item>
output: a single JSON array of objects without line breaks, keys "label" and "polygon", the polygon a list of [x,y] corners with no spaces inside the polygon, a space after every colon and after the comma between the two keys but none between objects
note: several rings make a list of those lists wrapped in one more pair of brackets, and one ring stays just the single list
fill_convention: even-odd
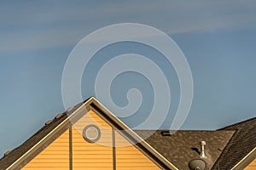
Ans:
[{"label": "brown shingled slope behind the vent pipe and satellite dish", "polygon": [[188,169],[189,161],[200,158],[199,150],[200,141],[205,140],[206,156],[204,161],[207,162],[207,169],[212,169],[213,164],[217,161],[226,144],[235,133],[233,130],[222,131],[189,131],[181,130],[171,136],[163,136],[162,130],[136,130],[142,138],[152,135],[145,139],[154,150],[157,150],[168,161],[171,161],[178,169]]}]

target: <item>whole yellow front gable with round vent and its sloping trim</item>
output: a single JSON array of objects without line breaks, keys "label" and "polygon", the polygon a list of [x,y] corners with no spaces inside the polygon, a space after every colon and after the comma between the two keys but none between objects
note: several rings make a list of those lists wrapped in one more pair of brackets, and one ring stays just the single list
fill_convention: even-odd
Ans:
[{"label": "whole yellow front gable with round vent and its sloping trim", "polygon": [[[151,169],[172,167],[170,162],[166,161],[155,150],[148,147],[148,144],[143,140],[140,141],[136,133],[129,127],[126,127],[124,123],[120,122],[119,119],[108,112],[102,105],[96,103],[94,99],[89,99],[84,104],[77,105],[67,111],[65,115],[61,116],[62,121],[59,124],[55,124],[55,122],[58,122],[58,117],[55,118],[57,119],[56,121],[54,120],[47,124],[45,128],[54,126],[51,127],[52,130],[45,134],[45,136],[41,137],[39,135],[41,139],[10,164],[7,169],[20,169],[22,167],[24,169],[31,169],[37,166],[40,169],[44,169],[44,167],[45,169],[49,167],[60,169],[61,166],[67,168],[67,165],[69,168],[75,167],[75,169],[84,169],[84,167],[90,167],[90,169],[99,169],[100,167],[104,167],[104,169],[106,167],[115,169],[118,166],[134,169],[134,166],[138,162],[143,162],[142,165],[144,167],[150,167]],[[73,124],[71,122],[75,123]],[[91,142],[84,138],[84,128],[91,125],[97,127],[101,133],[100,138],[96,142]],[[36,138],[37,135],[38,133],[32,139]],[[63,139],[62,135],[68,136],[67,138],[65,137],[68,139],[68,147],[67,144],[63,145],[65,150],[64,148],[60,150],[62,146],[59,141]],[[125,148],[117,147],[115,144],[119,143],[120,138],[122,142],[125,141],[126,144],[131,143],[133,145],[130,144],[130,147]],[[32,139],[28,139],[28,143]],[[137,141],[140,141],[140,143],[137,143]],[[22,145],[18,149],[22,148]],[[124,150],[130,155],[130,158],[127,157],[127,162],[120,161],[124,159],[122,157],[125,153],[123,152]],[[63,158],[64,155],[67,156],[67,152],[68,160],[67,157]],[[49,154],[52,156],[53,153],[55,153],[55,160],[45,159],[46,155]],[[132,153],[134,154],[132,155]],[[164,161],[161,161],[161,159]],[[66,161],[60,164],[60,160]]]}]

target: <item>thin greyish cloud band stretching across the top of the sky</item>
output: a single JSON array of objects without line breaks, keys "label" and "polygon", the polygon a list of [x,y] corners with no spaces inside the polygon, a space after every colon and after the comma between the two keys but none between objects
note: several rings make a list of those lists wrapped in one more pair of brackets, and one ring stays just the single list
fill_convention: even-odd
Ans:
[{"label": "thin greyish cloud band stretching across the top of the sky", "polygon": [[122,22],[154,26],[168,34],[247,29],[256,25],[255,3],[248,2],[20,4],[24,9],[15,12],[2,6],[0,52],[75,45],[91,31]]}]

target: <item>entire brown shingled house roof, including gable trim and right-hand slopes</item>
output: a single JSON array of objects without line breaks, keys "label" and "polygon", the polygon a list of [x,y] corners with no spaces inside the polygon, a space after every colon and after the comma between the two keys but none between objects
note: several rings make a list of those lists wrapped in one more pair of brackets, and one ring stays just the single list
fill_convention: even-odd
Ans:
[{"label": "entire brown shingled house roof, including gable trim and right-hand slopes", "polygon": [[[136,146],[144,154],[156,160],[161,167],[188,169],[189,161],[199,158],[199,142],[201,140],[207,142],[207,158],[204,159],[207,162],[207,169],[231,169],[232,167],[241,169],[241,167],[245,167],[256,156],[256,152],[253,152],[256,147],[256,118],[216,131],[177,131],[172,135],[165,136],[162,135],[162,130],[132,131],[104,108],[104,106],[99,104],[96,99],[90,98],[59,114],[54,120],[44,125],[30,139],[27,139],[19,147],[11,150],[8,155],[3,156],[0,159],[0,170],[6,169],[19,161],[21,156],[36,148],[35,146],[45,139],[46,142],[38,147],[39,149],[35,153],[44,150],[50,142],[58,137],[57,134],[60,135],[68,127],[72,126],[72,123],[69,122],[71,116],[85,104],[86,108],[90,107],[90,109],[92,108],[97,111],[113,127],[117,129],[128,128],[129,130],[125,131],[123,135],[128,136],[131,142],[136,143],[141,138],[148,136],[148,133],[153,133],[148,139],[136,144]],[[49,133],[52,133],[55,129],[58,129],[58,133],[53,133],[52,136],[49,136]],[[50,140],[46,140],[48,136]]]}]

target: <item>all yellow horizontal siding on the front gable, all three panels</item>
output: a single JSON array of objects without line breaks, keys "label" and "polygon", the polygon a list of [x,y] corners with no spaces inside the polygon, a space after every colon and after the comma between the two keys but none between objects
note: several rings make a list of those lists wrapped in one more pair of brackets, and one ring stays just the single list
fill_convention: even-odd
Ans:
[{"label": "all yellow horizontal siding on the front gable, all three panels", "polygon": [[[84,127],[94,124],[100,128],[101,138],[89,143],[83,137]],[[123,136],[115,133],[116,168],[160,169]],[[113,169],[113,128],[95,112],[89,111],[72,126],[72,160],[74,170]],[[32,159],[22,170],[70,169],[69,130]]]}]

